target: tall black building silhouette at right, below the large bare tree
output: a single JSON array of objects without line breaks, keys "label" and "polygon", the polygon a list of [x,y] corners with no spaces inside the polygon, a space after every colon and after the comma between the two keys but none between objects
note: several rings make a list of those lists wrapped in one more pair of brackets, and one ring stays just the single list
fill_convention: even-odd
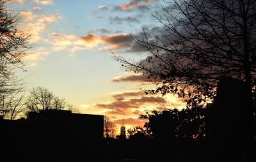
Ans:
[{"label": "tall black building silhouette at right, below the large bare tree", "polygon": [[216,161],[243,157],[252,140],[250,96],[243,81],[221,77],[217,95],[207,106],[206,137]]}]

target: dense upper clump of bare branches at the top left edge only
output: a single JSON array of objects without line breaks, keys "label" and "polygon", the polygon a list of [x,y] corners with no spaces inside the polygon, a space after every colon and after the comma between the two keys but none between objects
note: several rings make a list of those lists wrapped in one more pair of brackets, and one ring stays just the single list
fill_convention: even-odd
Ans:
[{"label": "dense upper clump of bare branches at the top left edge only", "polygon": [[29,44],[30,34],[19,29],[21,17],[6,7],[8,0],[0,0],[0,73],[8,73],[10,66],[22,67],[22,57],[31,45]]}]

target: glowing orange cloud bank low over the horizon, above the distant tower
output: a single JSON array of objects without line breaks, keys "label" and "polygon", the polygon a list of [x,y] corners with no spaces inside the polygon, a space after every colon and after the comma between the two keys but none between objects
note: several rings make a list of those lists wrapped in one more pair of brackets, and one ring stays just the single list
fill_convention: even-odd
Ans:
[{"label": "glowing orange cloud bank low over the horizon, above the distant tower", "polygon": [[[150,110],[165,110],[166,108],[186,108],[186,103],[177,95],[167,94],[162,97],[159,95],[146,95],[141,91],[124,91],[111,93],[112,99],[108,102],[82,105],[84,113],[104,114],[115,119],[138,118],[139,114],[145,114]],[[113,118],[114,119],[114,118]],[[131,120],[133,120],[131,119]],[[125,124],[136,126],[140,121],[127,121]],[[141,122],[142,123],[142,122]],[[118,121],[120,124],[120,121]]]}]

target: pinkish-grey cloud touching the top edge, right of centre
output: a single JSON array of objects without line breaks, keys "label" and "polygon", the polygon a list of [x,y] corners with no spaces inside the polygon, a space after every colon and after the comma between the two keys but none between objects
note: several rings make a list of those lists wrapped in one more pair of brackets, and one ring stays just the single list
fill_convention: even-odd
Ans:
[{"label": "pinkish-grey cloud touching the top edge, right of centre", "polygon": [[116,6],[116,10],[128,11],[133,9],[148,9],[148,6],[152,6],[157,3],[158,0],[130,0],[129,3],[124,3]]}]

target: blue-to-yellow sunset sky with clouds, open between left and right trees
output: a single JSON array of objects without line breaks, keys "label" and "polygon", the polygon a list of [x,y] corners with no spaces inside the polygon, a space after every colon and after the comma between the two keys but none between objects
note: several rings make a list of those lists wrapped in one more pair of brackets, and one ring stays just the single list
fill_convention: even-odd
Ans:
[{"label": "blue-to-yellow sunset sky with clouds, open between left and right trees", "polygon": [[143,29],[152,33],[161,24],[152,14],[161,13],[160,0],[12,0],[20,11],[21,29],[31,33],[33,48],[24,59],[26,87],[45,87],[79,107],[83,114],[108,115],[118,126],[143,126],[138,119],[147,110],[185,108],[173,94],[145,95],[145,76],[125,71],[111,56],[112,50],[130,60],[147,57],[132,36]]}]

